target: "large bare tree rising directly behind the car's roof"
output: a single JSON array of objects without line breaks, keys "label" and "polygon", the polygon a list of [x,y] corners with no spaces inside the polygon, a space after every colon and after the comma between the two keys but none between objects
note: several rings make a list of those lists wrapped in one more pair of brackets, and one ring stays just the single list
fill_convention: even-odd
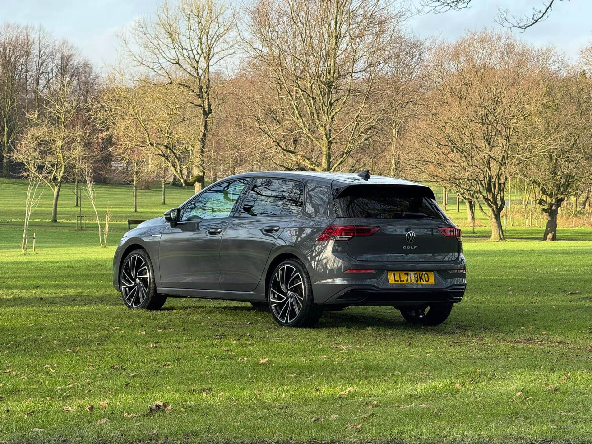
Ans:
[{"label": "large bare tree rising directly behind the car's roof", "polygon": [[247,8],[253,118],[285,168],[334,171],[390,123],[386,81],[406,10],[382,0],[260,0]]}]

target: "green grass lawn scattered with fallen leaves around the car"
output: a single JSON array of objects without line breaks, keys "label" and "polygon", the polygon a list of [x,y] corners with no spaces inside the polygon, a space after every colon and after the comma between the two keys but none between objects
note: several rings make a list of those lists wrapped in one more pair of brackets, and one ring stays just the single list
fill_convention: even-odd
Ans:
[{"label": "green grass lawn scattered with fallen leaves around the car", "polygon": [[[1,220],[19,217],[18,186],[0,181]],[[117,220],[162,213],[159,190],[126,213],[129,191],[105,188]],[[166,208],[191,194],[173,192]],[[0,442],[591,441],[592,230],[490,243],[479,228],[446,323],[348,308],[315,329],[227,301],[128,310],[93,224],[33,222],[26,256],[21,230],[0,223]]]}]

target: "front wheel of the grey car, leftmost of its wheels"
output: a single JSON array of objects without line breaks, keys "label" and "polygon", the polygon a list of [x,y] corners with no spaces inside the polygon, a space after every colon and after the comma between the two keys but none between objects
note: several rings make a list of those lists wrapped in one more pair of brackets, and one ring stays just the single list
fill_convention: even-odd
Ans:
[{"label": "front wheel of the grey car, leftmost of its wheels", "polygon": [[154,268],[146,250],[133,250],[121,262],[119,285],[127,308],[160,310],[165,305],[166,296],[156,292]]}]

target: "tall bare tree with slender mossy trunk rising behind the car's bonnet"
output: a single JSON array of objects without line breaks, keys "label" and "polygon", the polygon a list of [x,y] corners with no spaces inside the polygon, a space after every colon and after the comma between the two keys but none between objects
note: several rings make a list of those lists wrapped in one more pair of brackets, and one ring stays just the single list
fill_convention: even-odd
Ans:
[{"label": "tall bare tree with slender mossy trunk rising behind the car's bonnet", "polygon": [[235,27],[234,15],[223,0],[179,0],[174,5],[165,1],[154,17],[137,21],[130,33],[121,36],[128,56],[149,73],[145,82],[185,89],[187,103],[200,111],[197,143],[188,153],[191,174],[179,176],[196,192],[204,186],[207,169],[211,94],[217,87],[213,70],[233,54]]}]

